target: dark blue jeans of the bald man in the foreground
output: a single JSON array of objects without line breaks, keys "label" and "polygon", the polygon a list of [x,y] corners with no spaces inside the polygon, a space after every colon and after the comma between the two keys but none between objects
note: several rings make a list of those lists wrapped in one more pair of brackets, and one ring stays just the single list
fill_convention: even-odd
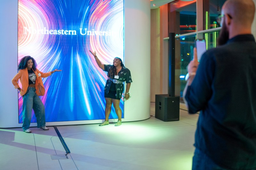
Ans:
[{"label": "dark blue jeans of the bald man in the foreground", "polygon": [[192,170],[227,170],[215,164],[204,152],[195,150]]}]

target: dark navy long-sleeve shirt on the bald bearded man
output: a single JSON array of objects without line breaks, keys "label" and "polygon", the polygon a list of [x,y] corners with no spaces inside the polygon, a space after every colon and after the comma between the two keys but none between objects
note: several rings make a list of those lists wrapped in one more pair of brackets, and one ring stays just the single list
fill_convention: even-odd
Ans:
[{"label": "dark navy long-sleeve shirt on the bald bearded man", "polygon": [[200,111],[195,146],[216,164],[256,168],[256,43],[238,35],[201,58],[185,99]]}]

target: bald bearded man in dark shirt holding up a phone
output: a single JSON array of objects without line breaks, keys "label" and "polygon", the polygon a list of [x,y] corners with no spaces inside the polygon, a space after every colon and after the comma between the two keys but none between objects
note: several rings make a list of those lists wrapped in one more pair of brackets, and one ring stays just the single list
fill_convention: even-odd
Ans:
[{"label": "bald bearded man in dark shirt holding up a phone", "polygon": [[192,169],[256,169],[256,42],[252,0],[227,0],[218,47],[188,64],[183,92],[200,111]]}]

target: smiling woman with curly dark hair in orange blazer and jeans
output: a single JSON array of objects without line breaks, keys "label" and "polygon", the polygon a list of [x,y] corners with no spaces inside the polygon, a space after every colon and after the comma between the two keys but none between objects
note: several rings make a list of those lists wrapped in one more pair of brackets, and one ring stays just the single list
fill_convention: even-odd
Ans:
[{"label": "smiling woman with curly dark hair in orange blazer and jeans", "polygon": [[[15,89],[20,91],[20,95],[23,99],[22,104],[22,129],[26,133],[31,133],[29,129],[32,108],[35,112],[37,128],[43,130],[49,130],[45,127],[45,111],[44,104],[38,96],[44,95],[44,84],[42,78],[51,76],[56,71],[61,71],[55,69],[47,73],[43,73],[36,68],[37,64],[33,57],[25,56],[21,58],[18,70],[19,72],[12,79],[12,84]],[[18,80],[20,79],[21,88],[18,85]]]}]

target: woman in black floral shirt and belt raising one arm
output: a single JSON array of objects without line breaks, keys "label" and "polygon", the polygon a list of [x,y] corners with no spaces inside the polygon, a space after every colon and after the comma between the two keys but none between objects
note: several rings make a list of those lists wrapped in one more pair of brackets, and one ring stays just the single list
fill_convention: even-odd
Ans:
[{"label": "woman in black floral shirt and belt raising one arm", "polygon": [[119,107],[120,99],[122,98],[122,93],[124,91],[124,81],[126,82],[126,89],[125,89],[125,99],[128,100],[130,98],[129,89],[131,86],[132,78],[131,72],[129,69],[124,67],[122,60],[118,57],[114,58],[113,65],[110,64],[102,64],[98,59],[96,52],[92,52],[96,63],[98,66],[108,72],[108,79],[104,88],[104,97],[106,100],[106,107],[105,107],[105,121],[100,123],[99,126],[108,125],[108,117],[111,112],[112,103],[114,105],[116,115],[118,116],[118,121],[115,126],[120,126],[122,124],[122,111]]}]

